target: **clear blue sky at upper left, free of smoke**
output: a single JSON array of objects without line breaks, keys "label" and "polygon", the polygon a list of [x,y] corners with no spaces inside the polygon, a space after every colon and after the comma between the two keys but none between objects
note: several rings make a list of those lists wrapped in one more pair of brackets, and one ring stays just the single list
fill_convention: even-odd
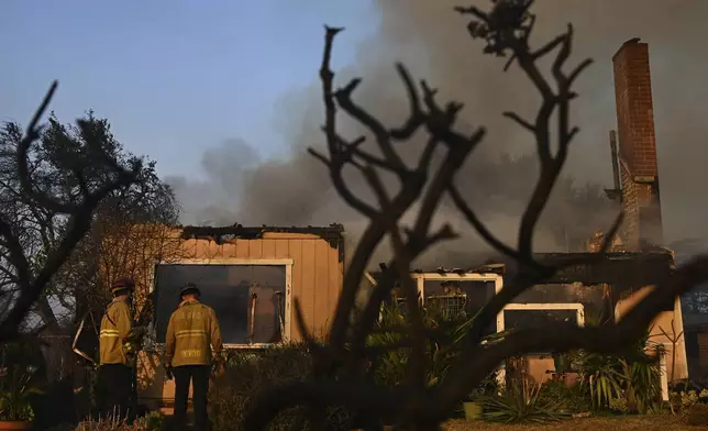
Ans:
[{"label": "clear blue sky at upper left, free of smoke", "polygon": [[324,23],[347,27],[335,67],[378,25],[369,0],[2,0],[0,121],[25,124],[58,79],[62,121],[93,109],[162,175],[230,137],[270,155],[275,106],[317,79]]}]

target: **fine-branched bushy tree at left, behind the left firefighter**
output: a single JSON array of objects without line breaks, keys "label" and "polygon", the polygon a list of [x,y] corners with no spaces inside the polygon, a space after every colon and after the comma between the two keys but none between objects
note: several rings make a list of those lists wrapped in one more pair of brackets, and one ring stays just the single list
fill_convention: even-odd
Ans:
[{"label": "fine-branched bushy tree at left, behind the left firefighter", "polygon": [[[148,245],[155,254],[165,248],[154,243],[157,236],[168,233],[163,223],[176,221],[178,206],[169,186],[156,175],[155,162],[125,151],[111,133],[108,120],[91,111],[68,124],[51,114],[38,135],[27,151],[32,180],[57,200],[74,201],[78,197],[75,172],[79,167],[91,187],[114,176],[115,168],[104,162],[107,158],[135,173],[135,181],[112,190],[100,201],[91,216],[91,228],[46,284],[23,323],[23,332],[41,330],[47,378],[53,382],[73,372],[74,330],[88,312],[102,312],[110,300],[107,284],[133,276],[139,294],[147,291],[145,270],[139,268],[152,266],[154,256],[144,251]],[[12,222],[34,277],[47,254],[60,244],[70,217],[24,198],[16,169],[23,139],[23,128],[18,123],[8,122],[0,128],[0,213]],[[140,231],[130,229],[136,225]],[[9,286],[0,287],[0,291],[14,287],[14,266],[5,261],[0,269]],[[145,297],[136,296],[136,309],[142,308]]]}]

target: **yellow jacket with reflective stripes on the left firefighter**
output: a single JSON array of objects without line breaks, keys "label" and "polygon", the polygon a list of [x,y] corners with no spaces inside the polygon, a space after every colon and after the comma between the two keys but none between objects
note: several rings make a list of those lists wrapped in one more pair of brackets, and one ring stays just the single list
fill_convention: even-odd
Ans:
[{"label": "yellow jacket with reflective stripes on the left firefighter", "polygon": [[123,342],[132,329],[132,319],[128,302],[114,299],[106,309],[101,319],[99,333],[99,363],[128,364]]}]

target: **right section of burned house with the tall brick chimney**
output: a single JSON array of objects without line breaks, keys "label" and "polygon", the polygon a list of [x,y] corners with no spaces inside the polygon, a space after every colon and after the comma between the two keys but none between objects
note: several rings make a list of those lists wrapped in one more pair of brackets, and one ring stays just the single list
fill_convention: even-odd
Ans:
[{"label": "right section of burned house with the tall brick chimney", "polygon": [[[610,133],[613,188],[606,192],[624,213],[620,232],[611,239],[609,253],[601,256],[597,255],[605,239],[601,231],[588,241],[588,254],[538,254],[540,263],[552,266],[590,257],[589,253],[593,258],[585,259],[587,264],[565,266],[544,284],[524,291],[506,307],[487,333],[544,321],[585,324],[604,317],[616,322],[673,274],[674,254],[663,247],[648,45],[639,38],[626,42],[612,57],[612,65],[618,131]],[[468,270],[438,268],[417,270],[411,276],[423,306],[435,302],[474,314],[504,288],[505,273],[504,265],[497,265],[494,272],[489,266]],[[370,274],[369,280],[375,284],[377,275]],[[667,379],[688,376],[686,346],[679,336],[684,331],[681,301],[666,303],[648,331],[651,342],[664,346],[664,358],[671,358],[662,364],[666,396]],[[551,352],[530,355],[526,366],[536,382],[543,382],[554,368]]]}]

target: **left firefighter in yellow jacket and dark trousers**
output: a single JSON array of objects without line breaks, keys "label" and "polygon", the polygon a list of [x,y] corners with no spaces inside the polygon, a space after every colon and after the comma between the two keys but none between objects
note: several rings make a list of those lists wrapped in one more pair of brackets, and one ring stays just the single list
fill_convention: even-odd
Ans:
[{"label": "left firefighter in yellow jacket and dark trousers", "polygon": [[133,327],[129,300],[134,284],[130,278],[121,278],[113,284],[113,300],[101,319],[99,334],[98,379],[101,393],[101,416],[117,416],[124,419],[129,415],[132,390],[132,368],[123,345]]}]

